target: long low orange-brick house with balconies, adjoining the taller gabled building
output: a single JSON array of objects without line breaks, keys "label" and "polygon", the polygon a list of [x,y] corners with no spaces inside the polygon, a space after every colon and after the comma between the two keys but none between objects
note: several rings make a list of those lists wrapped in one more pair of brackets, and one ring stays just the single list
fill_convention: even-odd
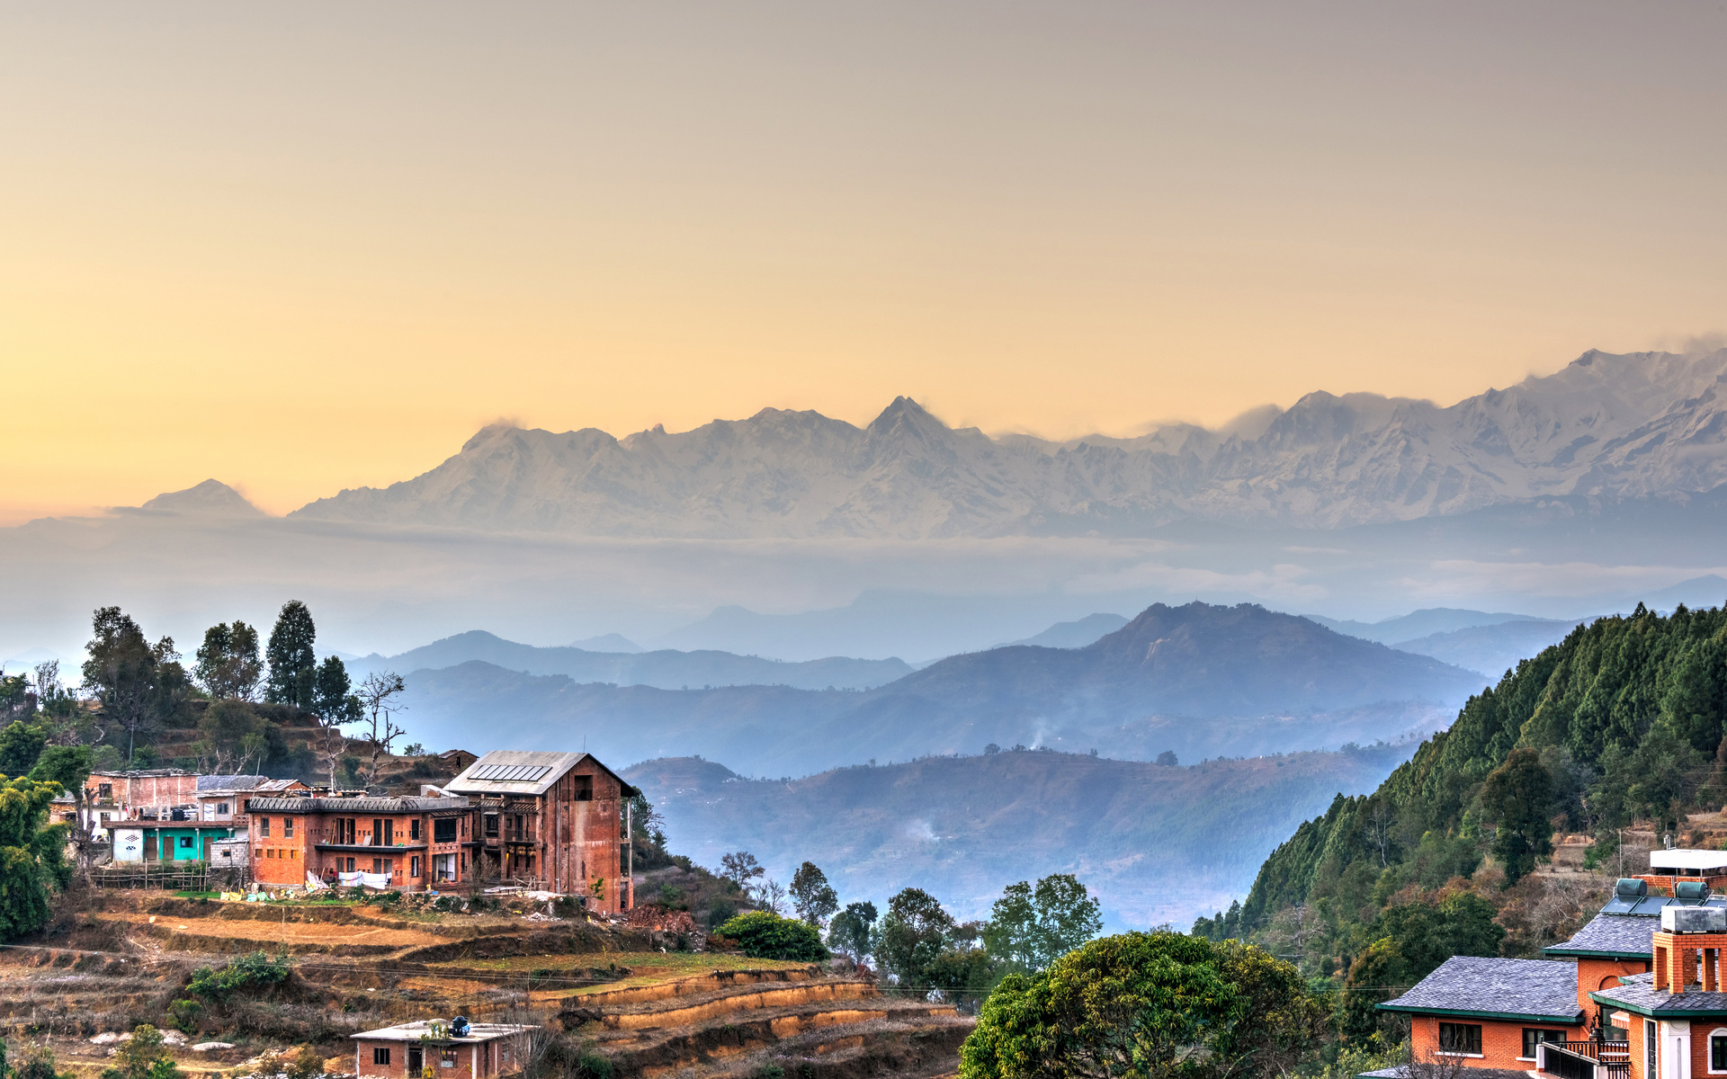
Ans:
[{"label": "long low orange-brick house with balconies, adjoining the taller gabled building", "polygon": [[297,887],[307,874],[337,884],[370,874],[375,884],[421,891],[473,879],[466,798],[250,798],[252,880]]}]

